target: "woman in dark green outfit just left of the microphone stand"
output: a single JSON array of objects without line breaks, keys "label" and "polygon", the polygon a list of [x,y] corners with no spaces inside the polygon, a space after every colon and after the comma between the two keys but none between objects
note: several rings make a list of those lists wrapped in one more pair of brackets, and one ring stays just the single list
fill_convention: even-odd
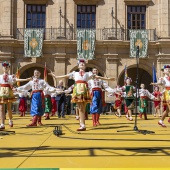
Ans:
[{"label": "woman in dark green outfit just left of the microphone stand", "polygon": [[125,113],[126,118],[130,121],[133,120],[132,118],[132,110],[134,109],[134,91],[135,87],[131,85],[132,79],[127,77],[125,79],[125,86],[122,87],[122,90],[126,92],[125,94]]}]

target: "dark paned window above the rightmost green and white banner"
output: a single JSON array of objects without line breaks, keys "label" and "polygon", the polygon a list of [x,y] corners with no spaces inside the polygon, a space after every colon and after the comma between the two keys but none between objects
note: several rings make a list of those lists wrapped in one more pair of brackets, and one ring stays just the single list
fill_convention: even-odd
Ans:
[{"label": "dark paned window above the rightmost green and white banner", "polygon": [[145,6],[127,6],[128,29],[145,29]]}]

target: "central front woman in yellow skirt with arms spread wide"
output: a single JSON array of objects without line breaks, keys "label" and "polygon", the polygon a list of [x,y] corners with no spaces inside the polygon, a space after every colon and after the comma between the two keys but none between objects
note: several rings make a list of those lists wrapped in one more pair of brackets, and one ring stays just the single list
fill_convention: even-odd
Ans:
[{"label": "central front woman in yellow skirt with arms spread wide", "polygon": [[77,131],[85,131],[85,108],[86,104],[91,102],[91,96],[88,90],[87,81],[91,78],[101,78],[105,79],[104,77],[100,77],[97,75],[93,75],[92,72],[85,72],[86,62],[84,59],[81,59],[77,63],[79,72],[73,71],[67,75],[63,76],[55,76],[54,73],[50,73],[55,78],[73,78],[75,80],[75,86],[73,89],[72,94],[72,103],[77,103],[80,115],[80,128]]}]

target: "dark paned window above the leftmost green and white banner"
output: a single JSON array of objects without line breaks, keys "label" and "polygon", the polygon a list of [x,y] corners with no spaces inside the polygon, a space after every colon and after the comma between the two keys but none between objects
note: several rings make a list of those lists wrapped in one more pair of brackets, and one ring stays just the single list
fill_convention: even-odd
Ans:
[{"label": "dark paned window above the leftmost green and white banner", "polygon": [[45,28],[46,5],[27,5],[27,28]]}]

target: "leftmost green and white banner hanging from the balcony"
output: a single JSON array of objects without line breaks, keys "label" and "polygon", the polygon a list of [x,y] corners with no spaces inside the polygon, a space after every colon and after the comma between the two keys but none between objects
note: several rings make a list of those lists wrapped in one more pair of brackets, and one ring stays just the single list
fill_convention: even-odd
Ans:
[{"label": "leftmost green and white banner hanging from the balcony", "polygon": [[43,28],[26,28],[24,31],[25,57],[42,56]]}]

